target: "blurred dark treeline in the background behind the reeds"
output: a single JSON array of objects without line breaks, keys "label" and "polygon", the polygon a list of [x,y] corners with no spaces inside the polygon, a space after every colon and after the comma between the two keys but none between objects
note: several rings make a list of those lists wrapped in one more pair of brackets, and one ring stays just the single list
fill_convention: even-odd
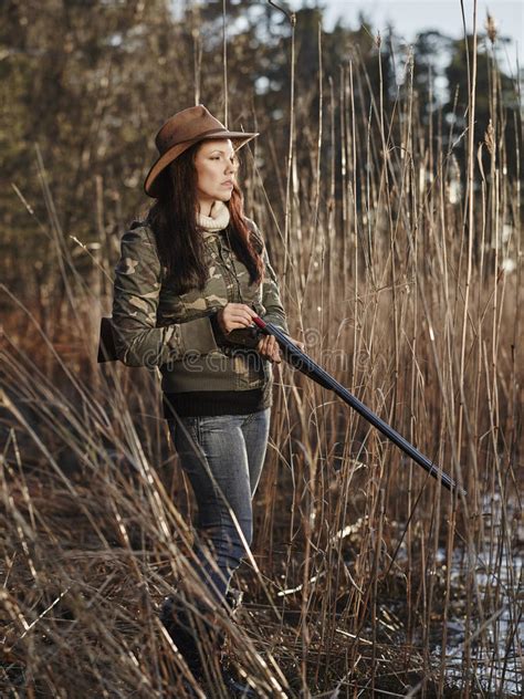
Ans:
[{"label": "blurred dark treeline in the background behind the reeds", "polygon": [[[153,135],[168,115],[196,102],[229,118],[229,126],[261,132],[244,182],[251,206],[256,199],[265,206],[268,199],[276,217],[283,217],[285,207],[292,83],[301,182],[294,194],[301,201],[314,197],[318,178],[327,180],[332,160],[344,156],[337,136],[354,113],[356,167],[359,180],[366,181],[369,159],[379,160],[385,148],[401,140],[394,133],[400,122],[389,124],[388,115],[402,108],[410,91],[418,123],[428,127],[413,137],[434,142],[436,150],[463,169],[464,41],[428,31],[406,46],[394,31],[377,35],[365,18],[358,29],[337,24],[319,31],[322,9],[304,8],[293,18],[260,0],[230,0],[227,8],[226,101],[221,0],[4,3],[1,275],[14,293],[42,293],[43,284],[52,294],[56,262],[50,217],[73,258],[80,249],[70,236],[88,243],[95,255],[99,250],[103,258],[114,254],[122,227],[147,205],[142,182],[155,157]],[[496,66],[500,42],[492,28],[478,44],[475,142],[480,145],[491,134],[496,146],[503,138],[501,170],[518,178],[516,88]],[[472,38],[468,49],[471,62]],[[504,118],[494,119],[500,113]],[[428,153],[431,148],[428,143]],[[428,168],[437,167],[437,158],[430,157]],[[252,187],[260,181],[265,194]],[[326,184],[325,196],[336,200],[340,186]],[[359,200],[363,192],[355,195]],[[78,260],[90,264],[85,254]]]}]

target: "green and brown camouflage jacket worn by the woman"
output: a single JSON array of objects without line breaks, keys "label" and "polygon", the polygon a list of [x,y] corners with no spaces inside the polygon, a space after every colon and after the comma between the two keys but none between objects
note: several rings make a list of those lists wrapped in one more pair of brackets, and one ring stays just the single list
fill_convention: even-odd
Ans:
[{"label": "green and brown camouflage jacket worn by the woman", "polygon": [[[253,221],[250,227],[260,238]],[[147,221],[134,221],[122,238],[115,269],[113,331],[118,358],[127,366],[158,366],[165,393],[270,392],[271,363],[255,352],[219,346],[212,315],[228,302],[247,303],[289,333],[279,284],[263,246],[264,279],[249,272],[228,244],[227,229],[203,231],[208,281],[202,290],[177,294],[165,279]]]}]

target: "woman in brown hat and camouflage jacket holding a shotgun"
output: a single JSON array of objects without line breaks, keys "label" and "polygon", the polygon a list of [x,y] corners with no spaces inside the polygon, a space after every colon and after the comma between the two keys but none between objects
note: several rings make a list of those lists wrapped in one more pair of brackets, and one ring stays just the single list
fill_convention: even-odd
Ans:
[{"label": "woman in brown hat and camouflage jacket holding a shotgun", "polygon": [[[163,374],[170,434],[195,490],[200,539],[212,552],[210,560],[196,544],[199,575],[226,605],[252,540],[271,363],[281,361],[275,338],[258,336],[252,319],[287,333],[275,274],[235,182],[235,152],[255,136],[229,132],[202,105],[164,124],[145,180],[156,202],[122,239],[113,306],[118,358]],[[200,672],[190,619],[175,607],[168,601],[161,618]]]}]

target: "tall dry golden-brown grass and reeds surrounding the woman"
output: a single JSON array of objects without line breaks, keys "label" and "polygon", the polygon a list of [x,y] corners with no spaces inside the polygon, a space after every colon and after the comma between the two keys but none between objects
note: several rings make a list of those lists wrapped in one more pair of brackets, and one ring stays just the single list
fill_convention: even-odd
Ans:
[{"label": "tall dry golden-brown grass and reeds surrounding the woman", "polygon": [[[495,139],[481,170],[470,138],[461,181],[454,138],[418,121],[410,69],[390,112],[370,93],[369,112],[356,108],[358,59],[324,95],[323,121],[293,103],[322,149],[305,163],[292,129],[282,228],[254,161],[247,194],[295,335],[468,498],[279,369],[253,557],[235,581],[245,604],[217,618],[261,697],[522,688],[521,174],[502,174],[495,90]],[[156,376],[95,364],[113,261],[81,279],[45,196],[63,298],[50,313],[2,290],[1,693],[182,697],[155,605],[174,586],[205,594],[189,563],[193,502]]]}]

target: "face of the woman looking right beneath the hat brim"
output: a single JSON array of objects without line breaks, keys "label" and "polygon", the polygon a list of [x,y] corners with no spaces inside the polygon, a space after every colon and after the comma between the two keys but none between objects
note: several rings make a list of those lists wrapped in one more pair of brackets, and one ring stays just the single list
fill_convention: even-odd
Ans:
[{"label": "face of the woman looking right beneath the hat brim", "polygon": [[209,216],[214,201],[229,201],[238,164],[229,138],[202,140],[195,156],[197,200],[200,212]]}]

